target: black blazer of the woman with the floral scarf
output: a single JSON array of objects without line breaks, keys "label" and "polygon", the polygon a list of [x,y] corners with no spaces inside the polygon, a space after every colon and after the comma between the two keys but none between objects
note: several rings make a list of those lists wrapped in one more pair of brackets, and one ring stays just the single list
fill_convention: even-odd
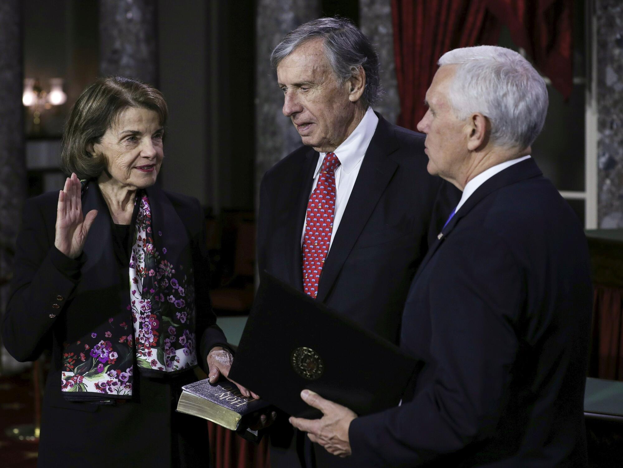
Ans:
[{"label": "black blazer of the woman with the floral scarf", "polygon": [[[111,310],[118,309],[120,295],[129,294],[127,286],[121,284],[113,255],[107,205],[94,182],[88,187],[82,196],[83,213],[95,208],[98,215],[83,248],[85,268],[76,278],[60,271],[75,268],[76,261],[54,247],[58,192],[26,201],[17,238],[11,295],[2,317],[2,340],[7,351],[22,362],[36,360],[44,349],[52,351],[44,406],[75,406],[65,402],[60,391],[62,344],[67,337],[82,337],[93,320],[105,319]],[[216,325],[209,299],[204,215],[198,200],[191,197],[156,186],[147,194],[154,215],[160,213],[163,220],[178,217],[186,227],[183,238],[191,243],[196,289],[197,360],[205,368],[209,350],[226,343],[226,338]]]}]

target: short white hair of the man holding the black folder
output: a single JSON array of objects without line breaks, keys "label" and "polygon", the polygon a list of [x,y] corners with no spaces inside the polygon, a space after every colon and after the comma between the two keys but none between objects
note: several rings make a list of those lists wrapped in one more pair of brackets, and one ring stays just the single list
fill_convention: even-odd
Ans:
[{"label": "short white hair of the man holding the black folder", "polygon": [[459,119],[479,112],[491,121],[491,140],[526,148],[543,129],[548,108],[545,80],[514,50],[495,45],[446,52],[440,66],[458,65],[449,100]]}]

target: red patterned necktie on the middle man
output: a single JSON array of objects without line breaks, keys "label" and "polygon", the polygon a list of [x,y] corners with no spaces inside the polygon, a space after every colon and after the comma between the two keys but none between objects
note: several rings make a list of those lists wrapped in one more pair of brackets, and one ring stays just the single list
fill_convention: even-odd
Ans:
[{"label": "red patterned necktie on the middle man", "polygon": [[328,152],[322,161],[320,177],[310,195],[305,217],[303,238],[303,291],[316,298],[318,283],[331,244],[333,218],[335,217],[335,169],[340,160]]}]

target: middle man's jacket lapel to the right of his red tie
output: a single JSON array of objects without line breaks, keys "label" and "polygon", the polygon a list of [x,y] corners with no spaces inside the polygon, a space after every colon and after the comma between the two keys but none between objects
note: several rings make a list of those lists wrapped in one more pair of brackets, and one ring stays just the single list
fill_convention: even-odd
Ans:
[{"label": "middle man's jacket lapel to the right of his red tie", "polygon": [[326,257],[320,284],[318,284],[316,299],[319,301],[324,301],[330,293],[361,230],[368,222],[392,175],[396,172],[398,164],[388,156],[397,148],[398,144],[391,126],[388,121],[379,116],[376,131],[370,141],[366,156],[361,162],[353,191]]}]

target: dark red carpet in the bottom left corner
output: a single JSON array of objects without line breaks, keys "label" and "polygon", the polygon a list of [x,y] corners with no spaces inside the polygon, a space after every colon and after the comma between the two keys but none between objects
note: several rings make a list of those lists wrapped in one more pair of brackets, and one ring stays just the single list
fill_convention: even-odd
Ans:
[{"label": "dark red carpet in the bottom left corner", "polygon": [[7,430],[34,422],[31,371],[0,376],[0,466],[35,468],[37,441],[20,441],[7,436]]}]

